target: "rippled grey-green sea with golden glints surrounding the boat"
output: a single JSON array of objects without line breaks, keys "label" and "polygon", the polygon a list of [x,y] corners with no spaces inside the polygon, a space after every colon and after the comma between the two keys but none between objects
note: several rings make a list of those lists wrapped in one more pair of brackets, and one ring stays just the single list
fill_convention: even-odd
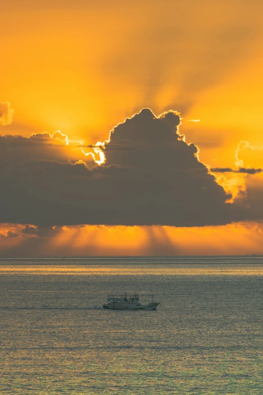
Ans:
[{"label": "rippled grey-green sea with golden glints surrounding the boat", "polygon": [[[262,257],[0,260],[0,393],[263,393]],[[156,311],[108,311],[107,293]]]}]

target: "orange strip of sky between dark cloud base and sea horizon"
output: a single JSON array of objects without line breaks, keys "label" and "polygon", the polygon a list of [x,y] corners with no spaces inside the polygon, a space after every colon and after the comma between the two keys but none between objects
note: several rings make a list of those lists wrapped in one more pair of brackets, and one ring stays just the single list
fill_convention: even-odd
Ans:
[{"label": "orange strip of sky between dark cloud base and sea horizon", "polygon": [[18,232],[18,237],[0,238],[3,256],[263,254],[263,227],[253,222],[202,228],[83,225],[42,238],[19,234],[18,228],[2,225],[2,234]]}]

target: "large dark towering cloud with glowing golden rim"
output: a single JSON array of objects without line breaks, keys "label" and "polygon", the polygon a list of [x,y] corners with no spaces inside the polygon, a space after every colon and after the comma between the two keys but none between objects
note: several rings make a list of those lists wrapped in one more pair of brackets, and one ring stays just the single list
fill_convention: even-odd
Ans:
[{"label": "large dark towering cloud with glowing golden rim", "polygon": [[143,109],[113,129],[101,166],[69,161],[59,134],[61,144],[47,134],[1,137],[0,222],[191,227],[247,219],[240,205],[226,203],[230,196],[179,135],[179,123],[176,112],[155,117]]}]

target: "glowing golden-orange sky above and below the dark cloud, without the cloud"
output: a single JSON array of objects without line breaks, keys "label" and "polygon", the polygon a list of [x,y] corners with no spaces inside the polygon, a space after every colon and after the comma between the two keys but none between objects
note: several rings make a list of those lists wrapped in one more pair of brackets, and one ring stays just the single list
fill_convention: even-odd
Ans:
[{"label": "glowing golden-orange sky above and below the dark cloud, without the cloud", "polygon": [[[92,162],[81,144],[92,151],[90,145],[144,107],[156,116],[172,109],[182,118],[179,133],[199,147],[200,161],[211,168],[261,168],[262,12],[257,0],[6,2],[0,101],[10,106],[0,104],[0,134],[59,130],[67,137],[50,140],[52,160]],[[261,194],[260,173],[216,177],[243,205]],[[3,220],[0,254],[14,245],[24,255],[44,255],[47,246],[51,255],[263,253],[255,219],[191,228],[59,224],[45,236],[21,234],[26,223]]]}]

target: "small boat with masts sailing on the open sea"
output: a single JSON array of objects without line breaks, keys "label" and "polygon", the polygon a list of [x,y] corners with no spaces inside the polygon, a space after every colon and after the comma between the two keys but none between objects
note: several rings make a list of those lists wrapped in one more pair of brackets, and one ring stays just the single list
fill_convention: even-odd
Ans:
[{"label": "small boat with masts sailing on the open sea", "polygon": [[129,298],[127,298],[126,292],[124,295],[108,295],[107,302],[103,305],[103,308],[114,310],[156,310],[160,302],[154,301],[154,295],[151,295],[151,297],[150,301],[145,301],[145,304],[142,304],[137,294],[131,295]]}]

